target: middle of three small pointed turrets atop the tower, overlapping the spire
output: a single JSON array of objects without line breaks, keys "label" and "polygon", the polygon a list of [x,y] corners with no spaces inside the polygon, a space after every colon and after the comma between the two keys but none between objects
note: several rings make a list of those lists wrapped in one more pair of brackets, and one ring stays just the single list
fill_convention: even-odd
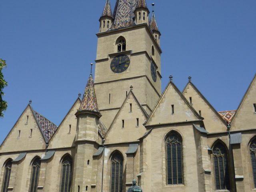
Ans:
[{"label": "middle of three small pointed turrets atop the tower, overlapping the spire", "polygon": [[138,0],[136,9],[134,10],[136,24],[148,24],[149,10],[147,8],[146,0]]}]

